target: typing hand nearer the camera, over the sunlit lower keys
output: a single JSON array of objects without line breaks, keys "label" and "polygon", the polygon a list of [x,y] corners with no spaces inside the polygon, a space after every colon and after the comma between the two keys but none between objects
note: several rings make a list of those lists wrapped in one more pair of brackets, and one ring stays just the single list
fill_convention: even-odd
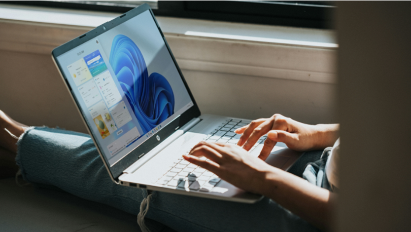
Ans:
[{"label": "typing hand nearer the camera, over the sunlit lower keys", "polygon": [[[199,159],[205,156],[211,161]],[[200,142],[183,157],[203,167],[234,186],[262,194],[267,174],[273,168],[237,145]]]}]

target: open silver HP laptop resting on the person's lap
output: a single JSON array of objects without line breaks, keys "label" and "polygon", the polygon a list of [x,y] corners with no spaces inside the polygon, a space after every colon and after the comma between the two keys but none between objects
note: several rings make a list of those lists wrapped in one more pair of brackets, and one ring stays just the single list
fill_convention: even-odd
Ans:
[{"label": "open silver HP laptop resting on the person's lap", "polygon": [[[200,141],[237,144],[234,130],[251,121],[200,113],[147,4],[55,48],[52,58],[112,181],[237,202],[262,199],[182,158]],[[258,156],[265,139],[249,154]],[[277,143],[267,162],[287,170],[300,155]]]}]

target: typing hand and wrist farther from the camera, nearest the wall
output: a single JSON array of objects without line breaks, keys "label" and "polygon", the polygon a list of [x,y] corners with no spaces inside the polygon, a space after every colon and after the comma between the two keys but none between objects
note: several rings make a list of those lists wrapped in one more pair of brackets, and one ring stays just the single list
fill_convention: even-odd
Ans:
[{"label": "typing hand and wrist farther from the camera, nearest the wall", "polygon": [[[323,136],[323,132],[327,131],[333,132],[331,134],[335,135],[324,141],[325,136]],[[263,150],[258,156],[265,160],[277,142],[283,142],[288,148],[295,151],[324,149],[327,146],[332,146],[338,138],[338,133],[335,133],[338,132],[338,124],[308,125],[289,117],[275,114],[270,118],[253,120],[250,124],[238,128],[235,132],[242,134],[238,145],[243,146],[247,151],[253,147],[261,136],[267,134]]]}]

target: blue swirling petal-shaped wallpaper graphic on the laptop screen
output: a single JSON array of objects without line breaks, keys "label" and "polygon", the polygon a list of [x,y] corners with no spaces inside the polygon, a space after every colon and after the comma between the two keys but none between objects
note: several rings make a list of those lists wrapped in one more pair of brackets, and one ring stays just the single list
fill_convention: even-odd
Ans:
[{"label": "blue swirling petal-shaped wallpaper graphic on the laptop screen", "polygon": [[117,35],[111,45],[109,62],[143,134],[174,114],[174,94],[169,81],[158,73],[148,75],[144,57],[132,39]]}]

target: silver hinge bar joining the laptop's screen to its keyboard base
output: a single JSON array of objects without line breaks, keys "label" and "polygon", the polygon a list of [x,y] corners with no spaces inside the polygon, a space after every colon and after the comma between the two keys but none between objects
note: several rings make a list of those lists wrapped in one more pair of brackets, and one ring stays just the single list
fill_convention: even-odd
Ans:
[{"label": "silver hinge bar joining the laptop's screen to its keyboard base", "polygon": [[136,162],[134,162],[132,165],[130,165],[128,168],[126,168],[123,171],[123,173],[131,174],[131,173],[135,172],[138,168],[140,168],[142,165],[144,165],[146,162],[148,162],[148,160],[150,160],[155,155],[159,154],[161,151],[163,151],[163,149],[165,149],[172,142],[174,142],[176,139],[178,139],[186,131],[193,128],[193,126],[195,126],[200,121],[201,121],[201,119],[198,118],[198,117],[191,119],[184,126],[182,126],[181,128],[177,129],[174,133],[172,133],[166,140],[164,140],[162,143],[160,143],[154,149],[152,149],[149,153],[147,153],[146,155],[143,155]]}]

